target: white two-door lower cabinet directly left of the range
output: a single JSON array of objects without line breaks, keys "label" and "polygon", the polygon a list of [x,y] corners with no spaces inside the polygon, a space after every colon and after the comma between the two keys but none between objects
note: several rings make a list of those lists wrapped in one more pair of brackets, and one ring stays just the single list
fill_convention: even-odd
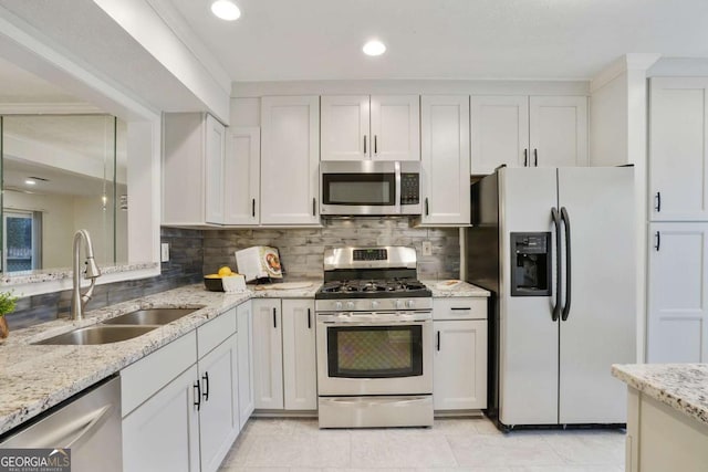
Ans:
[{"label": "white two-door lower cabinet directly left of the range", "polygon": [[264,410],[314,410],[317,405],[314,302],[253,300],[254,402]]}]

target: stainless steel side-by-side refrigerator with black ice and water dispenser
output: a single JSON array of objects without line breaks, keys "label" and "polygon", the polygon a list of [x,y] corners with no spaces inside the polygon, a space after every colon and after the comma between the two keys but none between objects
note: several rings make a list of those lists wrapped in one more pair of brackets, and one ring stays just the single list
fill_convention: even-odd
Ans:
[{"label": "stainless steel side-by-side refrigerator with black ice and water dispenser", "polygon": [[621,424],[636,361],[632,167],[507,168],[471,187],[467,280],[492,292],[488,413]]}]

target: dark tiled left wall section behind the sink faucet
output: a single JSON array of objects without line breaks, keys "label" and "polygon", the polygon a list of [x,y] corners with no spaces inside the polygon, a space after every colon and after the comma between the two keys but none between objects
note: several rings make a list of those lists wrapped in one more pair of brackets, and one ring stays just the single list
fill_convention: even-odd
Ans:
[{"label": "dark tiled left wall section behind the sink faucet", "polygon": [[[201,282],[202,232],[163,228],[160,240],[170,247],[170,260],[162,264],[160,275],[97,285],[86,310],[96,310]],[[70,306],[71,291],[28,296],[18,302],[17,310],[7,316],[7,321],[11,329],[19,329],[55,319],[60,313],[67,313]]]}]

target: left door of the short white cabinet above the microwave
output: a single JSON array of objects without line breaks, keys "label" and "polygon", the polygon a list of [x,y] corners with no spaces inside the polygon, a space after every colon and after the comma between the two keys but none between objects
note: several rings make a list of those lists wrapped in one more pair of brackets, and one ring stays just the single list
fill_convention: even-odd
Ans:
[{"label": "left door of the short white cabinet above the microwave", "polygon": [[321,160],[371,156],[368,95],[322,96]]}]

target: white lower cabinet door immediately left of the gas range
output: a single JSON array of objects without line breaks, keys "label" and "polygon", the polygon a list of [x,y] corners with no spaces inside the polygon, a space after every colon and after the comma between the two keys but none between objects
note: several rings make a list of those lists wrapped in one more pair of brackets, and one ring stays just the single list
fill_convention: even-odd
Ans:
[{"label": "white lower cabinet door immediately left of the gas range", "polygon": [[314,302],[283,300],[283,384],[287,410],[317,409]]}]

